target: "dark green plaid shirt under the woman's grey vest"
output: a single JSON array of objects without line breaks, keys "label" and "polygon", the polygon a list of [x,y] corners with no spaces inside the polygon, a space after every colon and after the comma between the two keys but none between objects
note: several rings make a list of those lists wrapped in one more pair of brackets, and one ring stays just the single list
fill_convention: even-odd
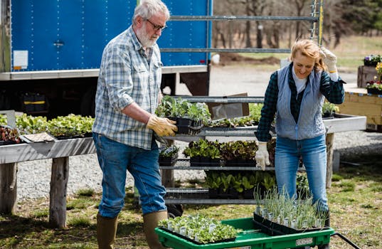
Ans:
[{"label": "dark green plaid shirt under the woman's grey vest", "polygon": [[[290,110],[292,112],[295,121],[297,122],[299,117],[299,109],[301,107],[302,97],[304,96],[304,90],[297,94],[297,88],[295,80],[292,76],[292,66],[289,65],[289,86],[291,90],[290,96]],[[308,78],[309,79],[309,78]],[[309,84],[309,80],[307,82]],[[334,82],[330,79],[330,76],[327,72],[322,72],[320,80],[320,92],[324,95],[327,100],[334,104],[341,104],[345,99],[345,90],[344,85],[346,84],[341,78],[338,81]],[[279,88],[277,86],[277,71],[272,73],[270,76],[270,82],[268,84],[267,90],[265,91],[265,100],[264,105],[261,110],[260,122],[258,125],[258,131],[256,132],[256,137],[259,141],[266,142],[270,139],[270,126],[275,119],[276,107],[277,107],[277,97],[279,94]]]}]

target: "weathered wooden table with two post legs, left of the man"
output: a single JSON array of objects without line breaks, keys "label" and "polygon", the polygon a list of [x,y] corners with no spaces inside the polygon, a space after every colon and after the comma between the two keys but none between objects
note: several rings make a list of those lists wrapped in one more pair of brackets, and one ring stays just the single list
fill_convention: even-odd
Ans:
[{"label": "weathered wooden table with two post legs, left of the man", "polygon": [[94,153],[95,146],[91,137],[1,146],[0,213],[14,212],[17,196],[17,163],[53,159],[49,223],[55,228],[64,228],[66,226],[66,189],[68,186],[69,157]]}]

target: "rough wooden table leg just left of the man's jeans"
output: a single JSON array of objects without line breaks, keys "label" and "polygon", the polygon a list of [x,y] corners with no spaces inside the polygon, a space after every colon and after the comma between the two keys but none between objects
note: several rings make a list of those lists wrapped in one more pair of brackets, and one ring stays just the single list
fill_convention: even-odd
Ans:
[{"label": "rough wooden table leg just left of the man's jeans", "polygon": [[55,228],[66,226],[66,188],[69,176],[69,157],[53,158],[49,223]]}]

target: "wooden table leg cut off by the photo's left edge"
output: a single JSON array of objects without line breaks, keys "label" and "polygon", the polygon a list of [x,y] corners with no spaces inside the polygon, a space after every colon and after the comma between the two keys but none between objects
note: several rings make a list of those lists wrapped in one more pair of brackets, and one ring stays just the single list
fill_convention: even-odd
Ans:
[{"label": "wooden table leg cut off by the photo's left edge", "polygon": [[14,213],[17,198],[17,164],[0,164],[0,213]]}]

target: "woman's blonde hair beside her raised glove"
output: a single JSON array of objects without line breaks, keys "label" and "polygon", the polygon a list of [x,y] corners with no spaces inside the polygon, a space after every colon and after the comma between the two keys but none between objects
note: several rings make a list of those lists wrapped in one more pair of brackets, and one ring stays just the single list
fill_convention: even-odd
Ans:
[{"label": "woman's blonde hair beside her raised glove", "polygon": [[321,58],[319,53],[319,46],[312,40],[303,39],[296,41],[292,46],[292,50],[290,53],[290,60],[296,57],[297,52],[301,52],[302,55],[307,56],[309,58],[314,58],[314,68],[315,70],[326,70],[326,66],[324,61]]}]

